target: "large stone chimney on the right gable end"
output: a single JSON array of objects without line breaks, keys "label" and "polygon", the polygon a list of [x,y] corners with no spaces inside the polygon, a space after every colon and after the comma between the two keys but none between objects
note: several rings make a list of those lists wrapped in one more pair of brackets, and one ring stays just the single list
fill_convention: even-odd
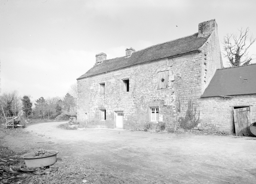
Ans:
[{"label": "large stone chimney on the right gable end", "polygon": [[215,29],[217,29],[217,23],[215,22],[215,19],[199,23],[198,37],[203,37],[205,35],[211,34]]}]

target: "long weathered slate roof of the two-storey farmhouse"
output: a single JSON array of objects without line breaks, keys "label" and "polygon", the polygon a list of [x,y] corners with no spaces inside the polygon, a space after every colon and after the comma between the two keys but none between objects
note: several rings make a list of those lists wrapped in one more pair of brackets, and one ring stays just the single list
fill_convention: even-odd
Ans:
[{"label": "long weathered slate roof of the two-storey farmhouse", "polygon": [[196,51],[201,46],[203,46],[209,36],[210,35],[198,38],[198,33],[195,33],[191,36],[179,38],[177,40],[161,43],[148,47],[146,49],[133,52],[133,54],[128,58],[125,58],[125,56],[123,56],[114,59],[108,59],[103,61],[103,63],[99,65],[94,65],[90,70],[88,70],[85,74],[81,75],[78,79],[100,73],[110,72],[128,66],[145,63],[148,61],[154,61],[157,59]]}]

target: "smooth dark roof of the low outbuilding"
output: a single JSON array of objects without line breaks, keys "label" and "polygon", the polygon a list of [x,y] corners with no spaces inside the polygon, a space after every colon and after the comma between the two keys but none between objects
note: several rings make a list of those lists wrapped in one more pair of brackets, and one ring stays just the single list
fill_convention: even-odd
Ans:
[{"label": "smooth dark roof of the low outbuilding", "polygon": [[256,64],[217,69],[201,97],[245,94],[256,94]]}]

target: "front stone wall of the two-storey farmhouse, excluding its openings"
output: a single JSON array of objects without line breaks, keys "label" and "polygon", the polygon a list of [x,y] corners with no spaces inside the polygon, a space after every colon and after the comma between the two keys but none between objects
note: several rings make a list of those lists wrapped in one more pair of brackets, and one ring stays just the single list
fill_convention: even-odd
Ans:
[{"label": "front stone wall of the two-storey farmhouse, excluding its openings", "polygon": [[[143,129],[150,123],[150,107],[159,107],[159,122],[165,123],[166,128],[173,126],[177,115],[186,114],[189,100],[198,106],[202,63],[201,53],[196,51],[79,79],[78,121],[115,128],[115,112],[123,111],[125,129]],[[167,70],[169,87],[157,89],[157,73]],[[123,92],[123,79],[129,79],[129,92]],[[105,83],[105,95],[100,95],[100,83]],[[177,99],[180,112],[176,111]],[[101,109],[106,110],[106,120],[101,120]]]}]

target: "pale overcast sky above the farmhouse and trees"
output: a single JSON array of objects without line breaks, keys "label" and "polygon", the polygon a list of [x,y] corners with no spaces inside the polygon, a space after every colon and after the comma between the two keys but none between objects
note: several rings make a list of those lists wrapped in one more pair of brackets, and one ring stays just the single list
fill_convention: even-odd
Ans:
[{"label": "pale overcast sky above the farmhouse and trees", "polygon": [[126,48],[192,35],[211,19],[220,41],[241,27],[256,36],[255,7],[255,0],[0,0],[1,93],[63,97],[96,54],[124,56]]}]

